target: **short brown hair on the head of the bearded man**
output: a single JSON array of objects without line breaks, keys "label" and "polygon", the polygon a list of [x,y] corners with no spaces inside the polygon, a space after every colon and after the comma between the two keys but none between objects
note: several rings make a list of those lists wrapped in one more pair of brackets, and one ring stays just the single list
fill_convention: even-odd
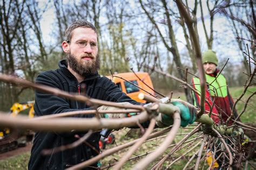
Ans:
[{"label": "short brown hair on the head of the bearded man", "polygon": [[97,33],[97,29],[94,25],[92,25],[91,23],[87,22],[86,20],[76,20],[75,22],[73,22],[69,27],[68,29],[66,29],[66,32],[65,32],[65,41],[70,41],[71,38],[72,38],[72,31],[79,28],[79,27],[82,27],[82,28],[90,28],[92,30],[95,31],[95,33],[97,34],[98,36],[98,33]]}]

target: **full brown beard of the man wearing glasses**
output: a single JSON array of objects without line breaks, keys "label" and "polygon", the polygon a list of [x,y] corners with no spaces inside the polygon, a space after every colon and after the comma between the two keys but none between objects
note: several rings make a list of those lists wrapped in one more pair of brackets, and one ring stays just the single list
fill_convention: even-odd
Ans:
[{"label": "full brown beard of the man wearing glasses", "polygon": [[77,59],[74,55],[68,53],[67,55],[68,66],[74,70],[77,74],[84,76],[86,74],[96,74],[99,69],[99,55],[96,59],[93,58],[88,61],[82,59]]}]

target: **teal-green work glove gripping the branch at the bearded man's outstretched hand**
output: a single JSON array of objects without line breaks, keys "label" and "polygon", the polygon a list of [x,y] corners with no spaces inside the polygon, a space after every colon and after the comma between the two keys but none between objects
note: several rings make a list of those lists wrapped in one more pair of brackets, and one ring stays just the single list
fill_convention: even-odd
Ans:
[{"label": "teal-green work glove gripping the branch at the bearded man's outstretched hand", "polygon": [[[181,101],[174,101],[174,102],[171,102],[171,104],[175,105],[180,109],[180,118],[181,118],[180,126],[185,127],[188,124],[192,124],[194,121],[196,121],[196,118],[197,118],[196,108],[186,104],[186,102],[181,103]],[[173,118],[171,115],[160,113],[157,117],[156,124],[159,128],[165,128],[173,124]]]}]

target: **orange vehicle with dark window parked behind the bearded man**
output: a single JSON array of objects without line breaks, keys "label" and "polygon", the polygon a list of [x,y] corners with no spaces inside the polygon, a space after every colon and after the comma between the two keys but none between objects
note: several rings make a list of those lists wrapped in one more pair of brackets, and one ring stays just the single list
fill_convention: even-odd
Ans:
[{"label": "orange vehicle with dark window parked behind the bearded man", "polygon": [[[138,76],[138,77],[137,77]],[[138,98],[139,93],[144,93],[148,94],[145,91],[151,93],[154,95],[153,89],[153,84],[150,78],[149,73],[145,72],[137,72],[137,73],[119,73],[119,74],[114,74],[112,76],[106,76],[109,79],[112,80],[117,86],[122,90],[125,94],[130,96],[133,100],[141,103],[146,103],[144,100],[140,100]],[[126,81],[127,80],[127,81]],[[128,82],[129,81],[129,82]],[[137,86],[134,86],[133,84],[136,84]],[[143,83],[144,82],[144,83]],[[149,87],[148,87],[149,86]]]}]

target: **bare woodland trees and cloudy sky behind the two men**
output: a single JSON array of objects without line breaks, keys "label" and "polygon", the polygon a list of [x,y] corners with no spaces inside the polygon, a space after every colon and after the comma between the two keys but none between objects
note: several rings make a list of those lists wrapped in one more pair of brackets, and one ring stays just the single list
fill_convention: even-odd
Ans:
[{"label": "bare woodland trees and cloudy sky behind the two men", "polygon": [[[255,1],[252,1],[255,6]],[[250,1],[184,1],[196,20],[201,51],[213,49],[230,87],[247,79],[247,56],[255,54],[255,35]],[[0,2],[0,72],[35,81],[43,70],[56,69],[65,58],[61,43],[65,30],[77,19],[93,23],[99,34],[99,73],[149,72],[144,65],[185,79],[197,73],[190,34],[173,1],[18,1]],[[53,11],[53,15],[46,15]],[[43,31],[45,23],[48,32]],[[49,24],[48,24],[49,25]],[[253,32],[254,31],[254,32]],[[253,34],[254,33],[254,34]],[[157,56],[157,57],[155,57]],[[154,60],[157,58],[157,60]],[[252,58],[256,59],[255,55]],[[183,91],[179,83],[152,73],[161,93]],[[188,80],[191,76],[188,76]],[[189,81],[188,81],[189,82]],[[0,110],[14,102],[34,100],[33,90],[0,82]],[[189,94],[189,93],[187,93]],[[187,96],[189,99],[189,95]]]}]

